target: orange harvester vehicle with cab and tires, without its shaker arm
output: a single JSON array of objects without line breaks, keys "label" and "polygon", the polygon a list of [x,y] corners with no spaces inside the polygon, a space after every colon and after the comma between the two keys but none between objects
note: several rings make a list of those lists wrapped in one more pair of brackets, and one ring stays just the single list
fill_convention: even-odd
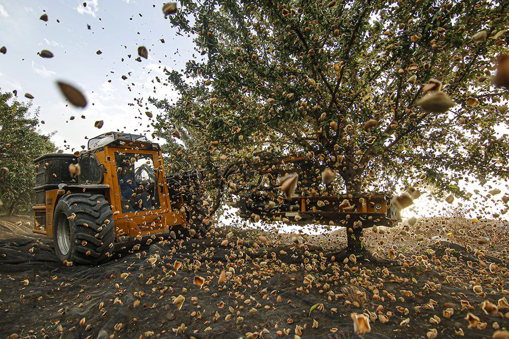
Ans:
[{"label": "orange harvester vehicle with cab and tires, without its shaker arm", "polygon": [[62,261],[100,264],[116,242],[174,226],[206,231],[206,195],[186,187],[182,177],[168,186],[161,148],[144,136],[105,133],[90,139],[86,151],[35,162],[33,231],[53,238]]}]

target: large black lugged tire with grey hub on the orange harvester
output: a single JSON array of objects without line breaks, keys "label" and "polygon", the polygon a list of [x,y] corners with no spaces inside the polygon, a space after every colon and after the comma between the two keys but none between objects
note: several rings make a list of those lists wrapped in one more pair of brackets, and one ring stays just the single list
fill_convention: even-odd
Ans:
[{"label": "large black lugged tire with grey hub on the orange harvester", "polygon": [[113,213],[103,195],[73,193],[56,204],[53,244],[61,261],[102,264],[111,258],[114,242]]}]

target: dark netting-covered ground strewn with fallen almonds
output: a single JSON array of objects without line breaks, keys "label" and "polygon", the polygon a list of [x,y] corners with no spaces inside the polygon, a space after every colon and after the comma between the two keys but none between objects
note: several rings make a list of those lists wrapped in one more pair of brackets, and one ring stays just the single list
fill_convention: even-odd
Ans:
[{"label": "dark netting-covered ground strewn with fallen almonds", "polygon": [[[101,266],[67,267],[57,261],[49,238],[30,234],[32,226],[24,223],[31,221],[0,219],[2,337],[357,337],[351,313],[371,317],[365,338],[426,338],[431,329],[438,338],[458,337],[460,329],[466,338],[491,338],[495,328],[509,328],[509,309],[487,315],[480,306],[509,297],[502,261],[507,225],[493,228],[497,246],[472,243],[469,250],[446,239],[407,247],[401,240],[388,243],[387,233],[369,233],[371,252],[384,262],[372,257],[345,263],[341,248],[322,252],[302,239],[285,244],[285,235],[268,235],[266,242],[254,235],[258,231],[216,228],[210,238],[144,240],[138,250],[129,251],[130,245]],[[227,235],[229,244],[221,246]],[[390,254],[387,246],[394,246]],[[179,270],[175,261],[182,263]],[[498,267],[494,273],[491,263]],[[231,274],[218,284],[223,269]],[[193,284],[196,275],[205,278],[202,288]],[[180,310],[172,303],[179,295],[185,297]],[[453,312],[446,318],[448,308]],[[469,312],[480,318],[471,329]],[[388,321],[382,323],[379,314]],[[438,324],[430,322],[434,315]]]}]

